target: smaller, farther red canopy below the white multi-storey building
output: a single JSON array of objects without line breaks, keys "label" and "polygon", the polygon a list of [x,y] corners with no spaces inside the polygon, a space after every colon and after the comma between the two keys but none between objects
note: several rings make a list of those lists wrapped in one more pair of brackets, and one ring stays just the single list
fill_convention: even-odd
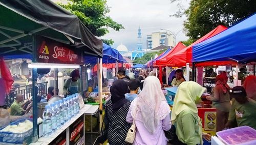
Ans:
[{"label": "smaller, farther red canopy below the white multi-storey building", "polygon": [[172,57],[172,55],[183,50],[184,48],[186,48],[186,46],[183,43],[179,42],[172,50],[166,53],[161,59],[157,60],[154,65],[169,66],[169,64],[167,64],[167,61]]}]

